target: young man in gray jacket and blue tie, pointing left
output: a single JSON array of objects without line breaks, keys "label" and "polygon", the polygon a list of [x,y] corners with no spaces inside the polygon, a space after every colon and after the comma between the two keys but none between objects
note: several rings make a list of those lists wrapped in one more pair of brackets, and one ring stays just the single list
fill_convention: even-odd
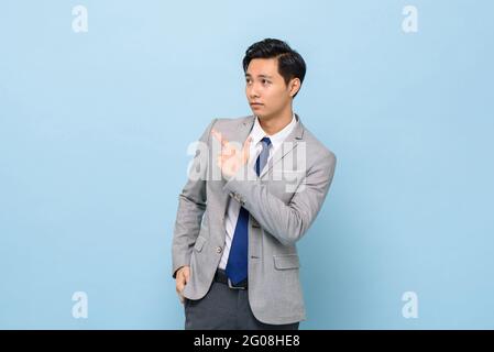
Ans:
[{"label": "young man in gray jacket and blue tie, pointing left", "polygon": [[243,69],[253,116],[211,121],[179,196],[173,276],[186,329],[305,320],[296,242],[322,206],[336,156],[293,112],[306,73],[297,52],[266,38],[248,48]]}]

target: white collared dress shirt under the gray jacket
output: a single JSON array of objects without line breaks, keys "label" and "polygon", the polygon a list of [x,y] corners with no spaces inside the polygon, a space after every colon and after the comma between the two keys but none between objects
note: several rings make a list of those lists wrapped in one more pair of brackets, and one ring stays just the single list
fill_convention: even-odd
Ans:
[{"label": "white collared dress shirt under the gray jacket", "polygon": [[[252,168],[255,168],[255,162],[257,160],[259,154],[261,154],[261,151],[263,148],[261,140],[265,136],[270,138],[271,145],[270,145],[270,154],[267,156],[267,162],[264,167],[267,167],[271,157],[274,155],[274,153],[282,146],[283,141],[292,133],[295,125],[297,124],[297,119],[295,118],[295,113],[292,116],[292,121],[279,132],[276,132],[273,135],[268,135],[264,130],[262,129],[261,124],[259,123],[259,118],[255,117],[254,120],[254,127],[252,128],[251,133],[249,136],[252,136],[251,147],[250,147],[250,154],[249,154],[249,161],[248,165]],[[262,170],[261,173],[262,174]],[[227,215],[224,219],[224,227],[227,230],[227,238],[223,249],[223,255],[221,256],[221,261],[219,264],[219,267],[224,270],[227,267],[228,263],[228,255],[230,254],[230,246],[233,240],[233,233],[235,232],[237,221],[239,219],[239,212],[240,212],[240,204],[235,200],[229,199],[228,208],[227,208]]]}]

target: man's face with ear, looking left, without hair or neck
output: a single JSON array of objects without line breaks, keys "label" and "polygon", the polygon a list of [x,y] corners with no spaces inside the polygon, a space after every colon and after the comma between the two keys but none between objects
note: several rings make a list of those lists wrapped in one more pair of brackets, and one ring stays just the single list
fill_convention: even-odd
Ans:
[{"label": "man's face with ear, looking left, without hair or neck", "polygon": [[245,95],[255,116],[260,119],[277,117],[289,108],[297,87],[294,78],[285,84],[278,73],[277,58],[254,58],[245,73]]}]

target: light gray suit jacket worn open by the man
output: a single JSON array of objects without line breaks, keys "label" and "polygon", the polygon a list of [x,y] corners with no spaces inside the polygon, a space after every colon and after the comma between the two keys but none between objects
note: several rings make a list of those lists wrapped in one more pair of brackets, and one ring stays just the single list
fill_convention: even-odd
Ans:
[{"label": "light gray suit jacket worn open by the man", "polygon": [[189,177],[179,195],[173,239],[173,277],[180,266],[190,266],[183,293],[186,298],[200,299],[207,294],[226,242],[228,201],[239,201],[250,212],[252,312],[257,320],[272,324],[306,319],[296,242],[322,206],[336,156],[301,124],[298,114],[295,117],[298,123],[259,177],[248,165],[237,174],[246,176],[244,179],[221,176],[217,153],[212,152],[217,142],[210,133],[215,128],[227,140],[243,144],[254,116],[215,119],[204,132],[200,141],[209,150],[196,151],[189,176],[194,172],[200,177]]}]

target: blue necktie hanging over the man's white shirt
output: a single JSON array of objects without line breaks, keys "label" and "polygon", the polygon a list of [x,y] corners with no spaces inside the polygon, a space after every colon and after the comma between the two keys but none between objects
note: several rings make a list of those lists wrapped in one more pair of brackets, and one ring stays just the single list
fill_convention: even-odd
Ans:
[{"label": "blue necktie hanging over the man's white shirt", "polygon": [[[261,140],[263,150],[255,162],[255,173],[261,175],[270,156],[271,140],[265,136]],[[227,276],[237,285],[248,277],[248,252],[249,252],[249,211],[240,207],[239,220],[237,221],[235,232],[228,255]]]}]

